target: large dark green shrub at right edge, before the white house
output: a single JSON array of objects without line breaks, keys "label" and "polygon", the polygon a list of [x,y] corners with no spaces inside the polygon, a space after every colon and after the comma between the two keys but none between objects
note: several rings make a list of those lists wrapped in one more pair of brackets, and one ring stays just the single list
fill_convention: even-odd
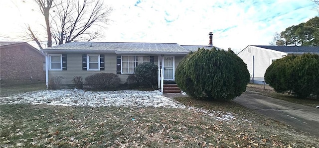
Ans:
[{"label": "large dark green shrub at right edge, before the white house", "polygon": [[266,71],[265,80],[278,92],[299,98],[319,95],[319,55],[304,54],[276,60]]}]

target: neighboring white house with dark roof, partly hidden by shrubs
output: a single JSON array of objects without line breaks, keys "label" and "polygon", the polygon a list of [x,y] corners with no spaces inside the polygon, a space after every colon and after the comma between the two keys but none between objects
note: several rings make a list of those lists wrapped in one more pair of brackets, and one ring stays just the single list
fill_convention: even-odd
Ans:
[{"label": "neighboring white house with dark roof, partly hidden by shrubs", "polygon": [[277,59],[288,55],[303,55],[304,53],[319,54],[319,47],[310,46],[259,46],[248,45],[237,55],[247,64],[251,81],[263,83],[267,68]]}]

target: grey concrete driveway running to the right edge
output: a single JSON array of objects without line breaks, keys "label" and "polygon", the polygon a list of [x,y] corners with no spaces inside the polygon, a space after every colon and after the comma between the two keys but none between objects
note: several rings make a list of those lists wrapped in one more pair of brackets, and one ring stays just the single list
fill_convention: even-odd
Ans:
[{"label": "grey concrete driveway running to the right edge", "polygon": [[319,137],[319,109],[290,103],[258,93],[246,92],[235,102],[274,120],[282,121],[297,130]]}]

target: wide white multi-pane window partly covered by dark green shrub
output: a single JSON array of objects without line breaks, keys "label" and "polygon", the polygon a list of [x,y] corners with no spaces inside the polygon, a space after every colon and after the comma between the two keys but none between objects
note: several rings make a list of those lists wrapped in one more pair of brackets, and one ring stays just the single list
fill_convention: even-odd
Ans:
[{"label": "wide white multi-pane window partly covered by dark green shrub", "polygon": [[122,56],[121,59],[122,74],[134,74],[139,64],[150,62],[150,56]]}]

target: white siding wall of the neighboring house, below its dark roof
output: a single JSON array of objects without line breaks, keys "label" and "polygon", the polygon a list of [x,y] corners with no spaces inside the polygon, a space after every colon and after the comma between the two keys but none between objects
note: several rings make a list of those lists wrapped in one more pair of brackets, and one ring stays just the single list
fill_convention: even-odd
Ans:
[{"label": "white siding wall of the neighboring house, below its dark roof", "polygon": [[[248,53],[248,49],[251,52]],[[248,46],[241,51],[238,56],[246,63],[250,76],[253,76],[253,57],[255,59],[254,80],[264,81],[264,75],[267,68],[271,65],[273,59],[282,58],[280,52],[273,50],[261,49],[255,46]]]}]

